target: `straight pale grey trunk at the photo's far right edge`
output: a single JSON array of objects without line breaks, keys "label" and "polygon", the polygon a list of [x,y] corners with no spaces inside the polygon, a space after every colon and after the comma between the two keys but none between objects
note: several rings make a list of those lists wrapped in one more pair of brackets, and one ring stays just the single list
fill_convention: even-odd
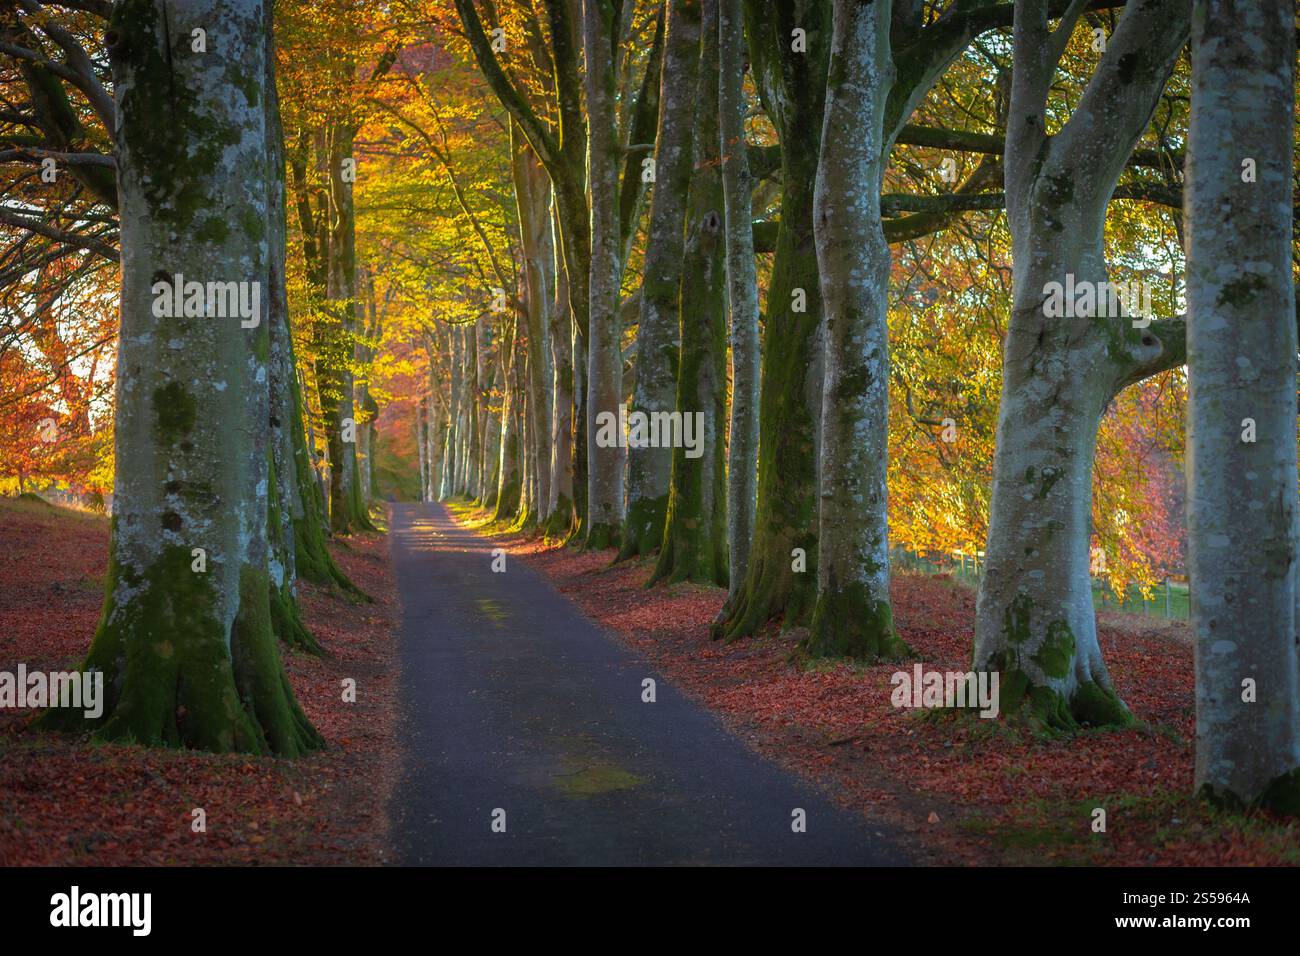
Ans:
[{"label": "straight pale grey trunk at the photo's far right edge", "polygon": [[1232,808],[1291,814],[1300,813],[1294,20],[1292,4],[1196,0],[1186,199],[1196,788]]}]

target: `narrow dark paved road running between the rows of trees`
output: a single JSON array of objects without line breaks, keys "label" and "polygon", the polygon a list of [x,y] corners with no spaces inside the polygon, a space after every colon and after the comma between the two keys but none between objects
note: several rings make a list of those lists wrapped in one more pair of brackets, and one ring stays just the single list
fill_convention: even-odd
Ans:
[{"label": "narrow dark paved road running between the rows of trees", "polygon": [[[395,861],[906,862],[884,827],[749,750],[523,562],[494,572],[491,542],[439,505],[393,505],[391,541]],[[641,700],[645,678],[654,704]],[[792,829],[797,808],[806,832]]]}]

